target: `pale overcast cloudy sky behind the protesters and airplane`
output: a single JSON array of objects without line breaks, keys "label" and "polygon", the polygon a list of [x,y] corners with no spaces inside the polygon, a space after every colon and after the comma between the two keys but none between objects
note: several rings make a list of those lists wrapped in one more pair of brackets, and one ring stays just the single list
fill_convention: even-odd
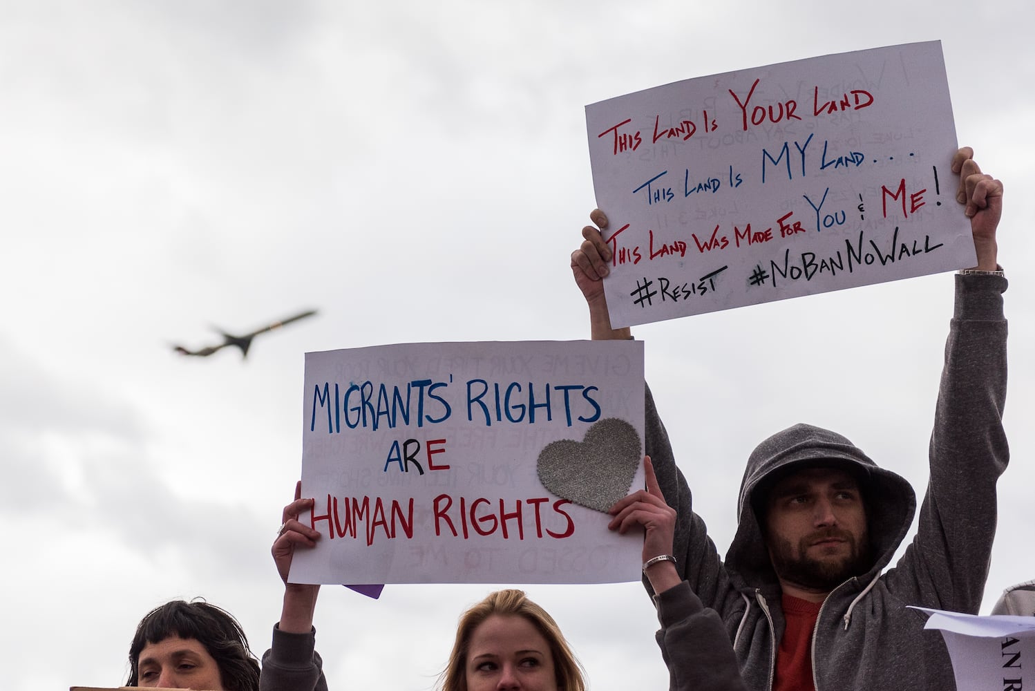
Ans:
[{"label": "pale overcast cloudy sky behind the protesters and airplane", "polygon": [[[1035,578],[1033,13],[1021,0],[0,2],[4,687],[117,686],[134,627],[204,596],[267,645],[299,473],[302,354],[588,336],[568,256],[594,206],[584,106],[941,39],[956,131],[1006,186],[1006,424],[987,611]],[[842,431],[918,490],[947,274],[640,327],[724,551],[743,460]],[[210,325],[318,319],[181,359]],[[325,588],[335,688],[425,689],[492,585]],[[530,585],[594,689],[664,688],[638,583]]]}]

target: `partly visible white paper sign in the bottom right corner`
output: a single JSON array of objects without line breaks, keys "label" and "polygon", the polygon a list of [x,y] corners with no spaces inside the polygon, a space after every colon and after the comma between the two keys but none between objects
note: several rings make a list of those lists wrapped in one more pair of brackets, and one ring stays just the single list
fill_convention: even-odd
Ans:
[{"label": "partly visible white paper sign in the bottom right corner", "polygon": [[925,629],[942,632],[958,691],[1035,686],[1035,619],[914,608],[930,614]]}]

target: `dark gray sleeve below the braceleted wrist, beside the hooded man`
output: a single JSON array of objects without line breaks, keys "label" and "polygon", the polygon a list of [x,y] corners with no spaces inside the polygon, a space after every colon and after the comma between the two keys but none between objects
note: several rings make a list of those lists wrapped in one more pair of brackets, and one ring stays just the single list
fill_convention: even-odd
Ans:
[{"label": "dark gray sleeve below the braceleted wrist, beside the hooded man", "polygon": [[655,597],[657,644],[669,667],[670,691],[744,691],[737,657],[714,609],[685,580]]}]

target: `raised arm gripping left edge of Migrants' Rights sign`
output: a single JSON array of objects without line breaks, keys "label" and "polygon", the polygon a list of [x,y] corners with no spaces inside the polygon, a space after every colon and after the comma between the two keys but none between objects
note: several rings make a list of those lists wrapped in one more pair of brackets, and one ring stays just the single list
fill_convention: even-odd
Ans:
[{"label": "raised arm gripping left edge of Migrants' Rights sign", "polygon": [[320,587],[288,582],[295,549],[310,549],[320,539],[318,531],[298,521],[298,514],[310,508],[313,500],[302,499],[302,483],[298,482],[295,501],[284,507],[284,522],[271,550],[284,581],[284,604],[280,621],[273,627],[273,644],[262,656],[261,691],[327,691],[313,627]]}]

